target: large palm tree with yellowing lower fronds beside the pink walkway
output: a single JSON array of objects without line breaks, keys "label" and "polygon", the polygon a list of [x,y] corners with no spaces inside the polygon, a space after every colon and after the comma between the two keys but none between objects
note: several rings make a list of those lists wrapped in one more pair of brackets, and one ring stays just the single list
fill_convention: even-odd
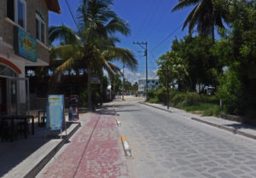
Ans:
[{"label": "large palm tree with yellowing lower fronds beside the pink walkway", "polygon": [[[118,42],[113,37],[115,32],[127,36],[130,28],[127,22],[120,19],[110,10],[113,0],[83,0],[78,9],[79,31],[73,32],[67,26],[53,26],[49,29],[49,42],[61,40],[61,45],[50,49],[50,58],[63,59],[56,71],[63,71],[79,62],[87,68],[88,73],[88,110],[91,104],[91,72],[104,66],[108,72],[114,73],[109,60],[124,60],[134,69],[137,60],[128,49],[114,46]],[[99,67],[100,66],[100,67]],[[91,71],[95,69],[94,71]]]}]

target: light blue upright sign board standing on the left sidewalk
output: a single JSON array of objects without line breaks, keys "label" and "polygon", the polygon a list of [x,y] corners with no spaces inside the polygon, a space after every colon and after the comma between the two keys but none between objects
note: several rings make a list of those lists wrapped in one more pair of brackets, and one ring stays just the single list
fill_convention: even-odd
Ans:
[{"label": "light blue upright sign board standing on the left sidewalk", "polygon": [[62,129],[64,120],[64,96],[48,95],[46,129]]}]

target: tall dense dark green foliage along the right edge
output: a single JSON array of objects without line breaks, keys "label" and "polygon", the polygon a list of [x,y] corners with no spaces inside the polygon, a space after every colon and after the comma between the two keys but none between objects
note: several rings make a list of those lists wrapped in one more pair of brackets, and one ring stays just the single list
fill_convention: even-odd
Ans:
[{"label": "tall dense dark green foliage along the right edge", "polygon": [[228,112],[244,115],[256,107],[256,6],[234,0],[225,7],[230,30],[221,32],[212,49],[229,70],[220,78],[218,96]]}]

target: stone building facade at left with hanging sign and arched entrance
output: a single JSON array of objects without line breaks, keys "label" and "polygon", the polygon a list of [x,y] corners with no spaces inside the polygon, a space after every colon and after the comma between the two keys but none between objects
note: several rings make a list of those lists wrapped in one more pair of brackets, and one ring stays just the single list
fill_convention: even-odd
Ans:
[{"label": "stone building facade at left with hanging sign and arched entrance", "polygon": [[0,115],[26,110],[26,66],[48,66],[49,10],[61,13],[58,0],[0,1]]}]

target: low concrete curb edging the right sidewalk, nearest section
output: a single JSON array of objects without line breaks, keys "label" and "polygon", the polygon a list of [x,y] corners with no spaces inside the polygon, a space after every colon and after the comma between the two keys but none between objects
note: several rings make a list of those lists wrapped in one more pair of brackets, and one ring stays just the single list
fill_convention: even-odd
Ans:
[{"label": "low concrete curb edging the right sidewalk, nearest section", "polygon": [[248,133],[246,133],[246,132],[240,131],[239,129],[228,128],[228,127],[226,127],[226,126],[224,126],[224,125],[220,125],[220,124],[216,124],[216,123],[210,123],[210,122],[201,120],[201,119],[199,119],[199,118],[191,118],[191,119],[192,119],[192,120],[195,120],[195,121],[197,121],[197,122],[200,122],[200,123],[206,123],[206,124],[208,124],[208,125],[211,125],[212,127],[218,128],[218,129],[224,129],[224,130],[229,131],[229,132],[231,132],[231,133],[233,133],[233,134],[246,136],[246,137],[248,137],[248,138],[250,138],[250,139],[256,140],[256,135],[248,134]]}]

